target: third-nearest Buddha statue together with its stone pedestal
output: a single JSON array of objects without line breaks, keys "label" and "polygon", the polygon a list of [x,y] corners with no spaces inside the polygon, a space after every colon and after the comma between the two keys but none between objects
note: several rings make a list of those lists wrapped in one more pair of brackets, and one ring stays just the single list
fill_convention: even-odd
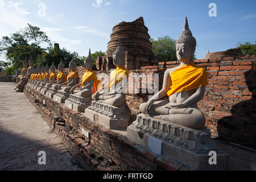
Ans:
[{"label": "third-nearest Buddha statue together with its stone pedestal", "polygon": [[89,56],[84,60],[85,73],[82,76],[82,82],[71,88],[71,94],[65,101],[65,106],[81,113],[84,113],[86,107],[90,105],[92,94],[97,91],[100,84],[96,74],[92,71],[92,64],[93,59],[89,50]]}]

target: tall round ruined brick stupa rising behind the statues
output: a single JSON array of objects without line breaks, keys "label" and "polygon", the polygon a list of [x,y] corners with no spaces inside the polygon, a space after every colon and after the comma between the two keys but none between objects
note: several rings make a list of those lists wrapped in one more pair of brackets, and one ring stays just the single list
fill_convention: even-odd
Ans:
[{"label": "tall round ruined brick stupa rising behind the statues", "polygon": [[121,39],[121,46],[126,53],[125,67],[127,69],[140,69],[147,65],[158,65],[159,60],[152,52],[152,43],[148,28],[144,26],[144,20],[139,17],[133,22],[121,22],[113,27],[105,56],[97,57],[96,67],[100,71],[108,71],[115,68],[112,54]]}]

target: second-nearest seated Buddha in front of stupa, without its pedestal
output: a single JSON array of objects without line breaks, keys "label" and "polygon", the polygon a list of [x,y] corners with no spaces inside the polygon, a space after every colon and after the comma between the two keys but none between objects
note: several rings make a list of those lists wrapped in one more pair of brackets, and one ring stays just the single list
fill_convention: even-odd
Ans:
[{"label": "second-nearest seated Buddha in front of stupa, without its pedestal", "polygon": [[113,53],[113,64],[117,67],[110,73],[108,85],[97,90],[92,99],[97,102],[119,107],[125,103],[126,88],[129,72],[125,68],[125,51],[121,47],[121,40]]}]

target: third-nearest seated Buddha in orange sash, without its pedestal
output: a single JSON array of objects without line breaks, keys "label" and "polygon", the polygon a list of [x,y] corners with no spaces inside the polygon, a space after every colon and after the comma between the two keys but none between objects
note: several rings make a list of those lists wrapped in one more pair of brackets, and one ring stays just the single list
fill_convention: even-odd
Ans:
[{"label": "third-nearest seated Buddha in orange sash, without its pedestal", "polygon": [[[89,56],[84,60],[84,68],[86,71],[82,76],[82,82],[73,86],[70,90],[73,96],[92,97],[92,94],[97,92],[100,81],[92,71],[92,64],[93,59],[89,49]],[[77,88],[78,86],[81,86],[81,88]]]}]

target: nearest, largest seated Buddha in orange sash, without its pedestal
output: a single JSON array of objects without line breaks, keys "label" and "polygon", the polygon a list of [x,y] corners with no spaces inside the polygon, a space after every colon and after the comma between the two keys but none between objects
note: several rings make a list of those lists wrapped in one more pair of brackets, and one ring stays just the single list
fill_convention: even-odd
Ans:
[{"label": "nearest, largest seated Buddha in orange sash, without its pedestal", "polygon": [[[139,106],[143,114],[191,129],[205,126],[205,117],[197,108],[197,102],[204,97],[208,76],[204,68],[193,63],[195,49],[196,39],[189,30],[186,17],[183,32],[176,41],[180,65],[164,72],[162,90]],[[164,96],[169,99],[159,101]]]}]

